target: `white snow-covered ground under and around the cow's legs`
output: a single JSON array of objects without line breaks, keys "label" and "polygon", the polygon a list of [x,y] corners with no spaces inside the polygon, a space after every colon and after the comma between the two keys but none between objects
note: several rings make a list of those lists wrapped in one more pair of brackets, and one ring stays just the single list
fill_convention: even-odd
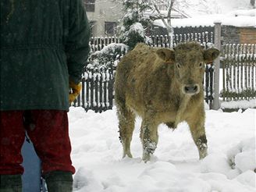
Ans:
[{"label": "white snow-covered ground under and around the cow's legs", "polygon": [[70,108],[74,191],[80,192],[255,192],[256,109],[206,111],[208,156],[198,160],[187,123],[158,128],[151,162],[141,161],[137,119],[131,151],[122,158],[116,108],[103,113]]}]

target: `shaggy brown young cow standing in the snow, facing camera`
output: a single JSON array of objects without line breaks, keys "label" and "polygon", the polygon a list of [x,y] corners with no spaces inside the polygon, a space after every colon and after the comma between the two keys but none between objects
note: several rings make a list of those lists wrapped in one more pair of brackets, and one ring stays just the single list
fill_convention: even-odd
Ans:
[{"label": "shaggy brown young cow standing in the snow, facing camera", "polygon": [[211,62],[219,50],[204,50],[195,42],[179,44],[175,50],[151,48],[146,44],[127,53],[116,69],[115,100],[119,118],[123,157],[132,158],[136,115],[142,118],[140,140],[147,162],[158,144],[158,125],[172,129],[187,121],[200,158],[207,155],[204,131],[204,63]]}]

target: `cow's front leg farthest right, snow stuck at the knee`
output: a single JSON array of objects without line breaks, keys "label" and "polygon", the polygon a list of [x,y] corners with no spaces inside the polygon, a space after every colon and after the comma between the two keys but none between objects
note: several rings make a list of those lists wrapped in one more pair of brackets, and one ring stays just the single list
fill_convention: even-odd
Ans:
[{"label": "cow's front leg farthest right, snow stuck at the knee", "polygon": [[204,116],[195,118],[194,120],[188,121],[187,123],[190,126],[190,132],[193,137],[194,143],[197,145],[199,158],[205,158],[208,155],[208,146],[204,130]]}]

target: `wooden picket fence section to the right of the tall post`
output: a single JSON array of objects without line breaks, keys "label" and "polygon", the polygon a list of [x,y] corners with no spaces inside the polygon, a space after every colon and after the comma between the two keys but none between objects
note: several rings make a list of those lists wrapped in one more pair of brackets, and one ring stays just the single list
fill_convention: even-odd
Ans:
[{"label": "wooden picket fence section to the right of the tall post", "polygon": [[256,44],[222,45],[223,101],[256,98]]}]

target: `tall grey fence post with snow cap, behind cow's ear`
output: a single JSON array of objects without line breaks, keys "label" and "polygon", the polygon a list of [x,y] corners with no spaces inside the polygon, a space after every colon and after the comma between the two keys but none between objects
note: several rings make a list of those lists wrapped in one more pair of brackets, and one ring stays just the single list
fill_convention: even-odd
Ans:
[{"label": "tall grey fence post with snow cap, behind cow's ear", "polygon": [[[215,48],[221,50],[221,22],[215,22],[215,40],[214,40]],[[218,110],[219,106],[219,57],[214,61],[214,98],[213,98],[213,109]]]}]

